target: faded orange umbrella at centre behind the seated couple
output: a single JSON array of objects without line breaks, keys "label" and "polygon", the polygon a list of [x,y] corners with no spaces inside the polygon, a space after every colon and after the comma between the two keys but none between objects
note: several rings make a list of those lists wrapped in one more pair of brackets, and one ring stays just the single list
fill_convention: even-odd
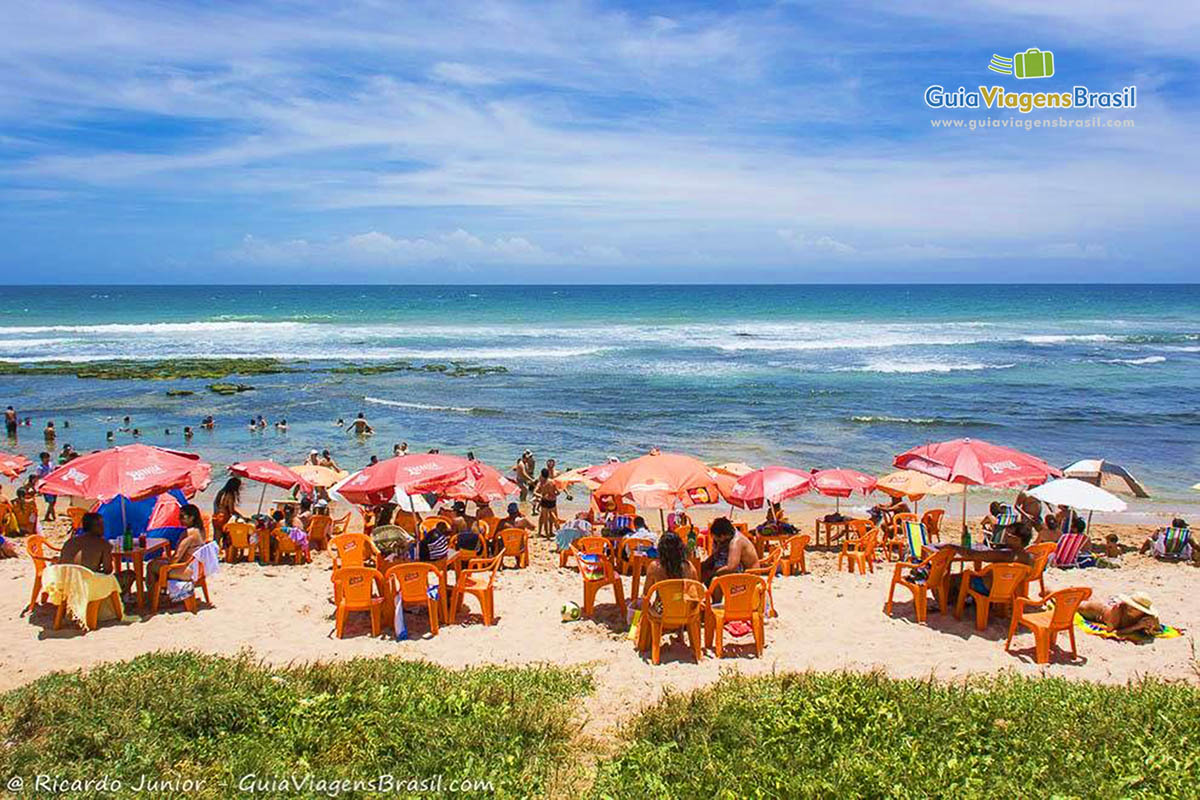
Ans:
[{"label": "faded orange umbrella at centre behind the seated couple", "polygon": [[652,452],[623,463],[596,494],[629,497],[640,506],[673,509],[716,503],[721,494],[708,467],[691,456]]}]

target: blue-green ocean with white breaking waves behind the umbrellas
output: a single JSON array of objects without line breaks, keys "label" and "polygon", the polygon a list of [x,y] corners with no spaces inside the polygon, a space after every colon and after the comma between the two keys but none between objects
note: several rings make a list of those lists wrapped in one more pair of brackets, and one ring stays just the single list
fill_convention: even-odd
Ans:
[{"label": "blue-green ocean with white breaking waves behind the umbrellas", "polygon": [[[432,277],[432,276],[431,276]],[[0,295],[0,360],[276,357],[301,369],[211,380],[0,377],[0,405],[86,451],[128,414],[150,444],[215,465],[356,468],[394,443],[498,467],[529,447],[566,467],[650,447],[708,461],[881,474],[908,447],[976,437],[1051,463],[1105,457],[1147,507],[1200,500],[1198,285],[17,287]],[[331,372],[462,362],[451,377]],[[167,390],[192,390],[168,396]],[[365,440],[335,427],[367,415]],[[247,429],[252,415],[287,433]],[[70,427],[62,429],[62,422]],[[166,429],[170,434],[166,434]],[[118,434],[116,443],[128,441]]]}]

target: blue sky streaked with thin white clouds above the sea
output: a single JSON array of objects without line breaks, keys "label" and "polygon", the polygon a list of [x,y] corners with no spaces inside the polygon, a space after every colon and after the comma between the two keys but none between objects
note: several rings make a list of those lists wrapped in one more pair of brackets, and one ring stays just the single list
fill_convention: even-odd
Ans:
[{"label": "blue sky streaked with thin white clouds above the sea", "polygon": [[[1194,282],[1200,4],[7,0],[16,283]],[[988,71],[1051,50],[1056,74]],[[1138,88],[983,130],[925,89]]]}]

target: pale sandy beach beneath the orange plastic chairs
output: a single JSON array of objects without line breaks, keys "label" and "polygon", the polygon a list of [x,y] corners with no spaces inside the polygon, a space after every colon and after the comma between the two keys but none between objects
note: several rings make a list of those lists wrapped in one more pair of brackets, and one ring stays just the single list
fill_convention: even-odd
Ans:
[{"label": "pale sandy beach beneath the orange plastic chairs", "polygon": [[[694,511],[697,521],[719,513],[715,509]],[[793,513],[793,521],[810,531],[816,512],[802,515]],[[751,517],[740,512],[739,518]],[[47,530],[52,540],[66,534],[61,522]],[[1109,533],[1135,551],[1148,528],[1104,524],[1097,525],[1093,535]],[[1117,561],[1117,569],[1050,569],[1046,588],[1086,585],[1096,597],[1144,590],[1153,597],[1163,620],[1184,632],[1182,637],[1139,645],[1079,633],[1079,661],[1056,654],[1050,664],[1039,666],[1033,663],[1027,633],[1014,642],[1016,655],[1004,652],[1007,619],[994,618],[982,633],[966,615],[958,621],[953,615],[930,614],[928,625],[918,625],[902,590],[894,614],[884,615],[892,566],[881,561],[875,573],[866,576],[838,572],[835,552],[822,547],[810,549],[808,575],[775,579],[779,616],[767,624],[762,658],[743,646],[721,660],[706,654],[697,664],[684,646],[673,643],[655,667],[628,640],[624,615],[607,590],[599,596],[594,619],[560,621],[564,602],[581,602],[580,578],[574,569],[559,569],[550,542],[536,537],[530,566],[505,570],[497,579],[494,626],[484,626],[478,607],[468,601],[470,615],[460,616],[437,637],[427,634],[422,618],[410,614],[413,638],[407,642],[372,638],[366,615],[352,618],[344,639],[334,636],[328,553],[317,554],[304,566],[222,565],[210,582],[214,607],[202,607],[196,615],[173,607],[152,618],[134,613],[122,624],[104,624],[88,634],[71,626],[53,631],[53,609],[43,606],[31,615],[20,614],[32,581],[32,566],[22,548],[22,558],[0,561],[0,690],[50,672],[86,669],[163,649],[214,654],[252,650],[281,664],[358,656],[424,658],[448,667],[587,664],[594,669],[598,696],[608,698],[595,705],[602,709],[604,718],[589,720],[589,726],[608,729],[666,691],[703,686],[728,670],[882,670],[893,676],[947,680],[1012,670],[1117,684],[1142,675],[1200,682],[1192,638],[1192,631],[1200,626],[1200,597],[1193,590],[1195,567],[1156,561],[1136,552]],[[629,578],[625,589],[628,595]]]}]

